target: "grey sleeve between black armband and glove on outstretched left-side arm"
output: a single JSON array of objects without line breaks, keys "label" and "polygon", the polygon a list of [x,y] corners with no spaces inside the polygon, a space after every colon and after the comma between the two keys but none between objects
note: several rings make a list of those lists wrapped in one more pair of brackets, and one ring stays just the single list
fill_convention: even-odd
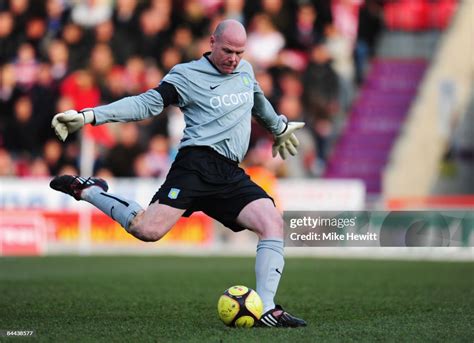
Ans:
[{"label": "grey sleeve between black armband and glove on outstretched left-side arm", "polygon": [[163,111],[163,98],[154,89],[129,96],[108,105],[94,107],[95,124],[129,122],[157,116]]}]

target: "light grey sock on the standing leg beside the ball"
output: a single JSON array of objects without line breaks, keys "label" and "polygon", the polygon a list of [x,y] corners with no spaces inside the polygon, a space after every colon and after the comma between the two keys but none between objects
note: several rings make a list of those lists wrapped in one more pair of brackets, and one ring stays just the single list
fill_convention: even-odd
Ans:
[{"label": "light grey sock on the standing leg beside the ball", "polygon": [[262,298],[264,313],[275,308],[273,298],[278,289],[284,265],[283,240],[262,239],[258,242],[255,274],[257,293]]}]

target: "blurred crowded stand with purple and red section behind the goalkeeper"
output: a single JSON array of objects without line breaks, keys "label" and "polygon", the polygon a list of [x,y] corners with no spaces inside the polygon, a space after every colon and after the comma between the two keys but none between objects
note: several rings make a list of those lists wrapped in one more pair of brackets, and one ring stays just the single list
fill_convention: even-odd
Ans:
[{"label": "blurred crowded stand with purple and red section behind the goalkeeper", "polygon": [[[269,59],[262,62],[252,49],[246,58],[258,66],[259,81],[277,110],[308,123],[301,158],[272,161],[271,137],[256,128],[245,162],[252,166],[257,160],[277,177],[356,177],[380,193],[382,170],[429,67],[427,58],[458,6],[455,0],[94,4],[0,0],[0,151],[5,156],[0,175],[78,173],[80,137],[58,145],[49,128],[52,115],[153,88],[170,66],[207,49],[204,37],[216,18],[233,17],[247,25],[257,46],[259,39],[270,44],[278,37]],[[97,144],[94,173],[162,175],[166,166],[161,164],[172,160],[182,125],[176,109],[166,112],[132,124],[139,138],[127,150],[134,167],[125,172],[109,158],[123,141],[121,130],[113,125],[87,130]],[[31,128],[36,133],[28,135]],[[160,156],[166,156],[153,171],[150,142],[163,139]],[[258,159],[252,157],[256,154]]]}]

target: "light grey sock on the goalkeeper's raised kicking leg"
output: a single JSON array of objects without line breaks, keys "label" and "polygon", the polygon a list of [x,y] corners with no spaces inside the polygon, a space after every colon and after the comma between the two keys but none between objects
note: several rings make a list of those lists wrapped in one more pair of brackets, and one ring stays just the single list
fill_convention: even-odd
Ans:
[{"label": "light grey sock on the goalkeeper's raised kicking leg", "polygon": [[82,192],[82,199],[91,203],[110,218],[120,223],[127,232],[130,222],[143,208],[133,200],[104,192],[100,187],[90,187]]}]

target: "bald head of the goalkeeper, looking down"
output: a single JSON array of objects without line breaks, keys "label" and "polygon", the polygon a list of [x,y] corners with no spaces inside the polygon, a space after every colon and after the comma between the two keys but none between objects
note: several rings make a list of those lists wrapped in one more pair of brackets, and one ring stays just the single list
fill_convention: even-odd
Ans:
[{"label": "bald head of the goalkeeper, looking down", "polygon": [[223,74],[232,73],[240,63],[245,51],[247,33],[237,20],[221,21],[211,36],[211,54],[209,58]]}]

